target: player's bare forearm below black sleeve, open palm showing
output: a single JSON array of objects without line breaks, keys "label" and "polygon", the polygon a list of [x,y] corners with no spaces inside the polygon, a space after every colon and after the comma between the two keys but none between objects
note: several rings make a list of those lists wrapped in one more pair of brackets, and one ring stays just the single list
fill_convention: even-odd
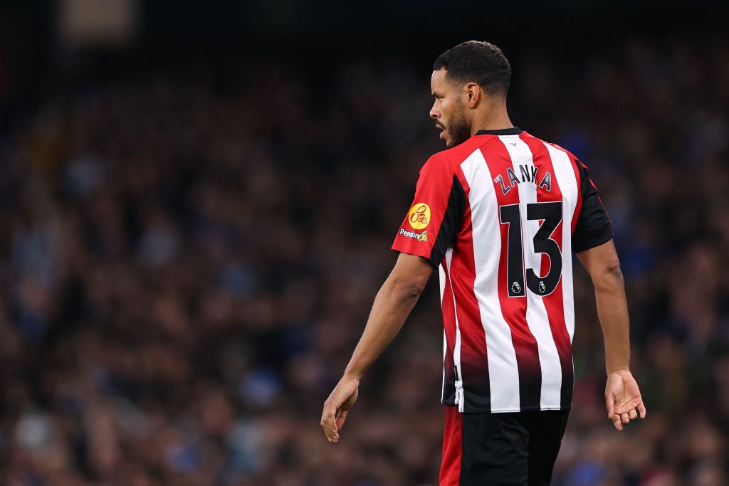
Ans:
[{"label": "player's bare forearm below black sleeve, open palm showing", "polygon": [[605,405],[617,430],[645,418],[638,383],[630,372],[630,332],[623,273],[612,240],[577,254],[595,286],[597,313],[605,340]]}]

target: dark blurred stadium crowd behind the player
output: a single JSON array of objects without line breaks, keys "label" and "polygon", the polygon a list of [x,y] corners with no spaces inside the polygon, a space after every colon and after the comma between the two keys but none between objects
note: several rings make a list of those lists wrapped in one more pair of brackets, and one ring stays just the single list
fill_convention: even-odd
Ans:
[{"label": "dark blurred stadium crowd behind the player", "polygon": [[[606,420],[575,275],[558,486],[729,484],[726,7],[617,1],[0,6],[0,483],[434,485],[437,284],[319,428],[442,149],[434,58],[512,63],[512,120],[590,167],[648,420]],[[435,278],[435,277],[434,277]]]}]

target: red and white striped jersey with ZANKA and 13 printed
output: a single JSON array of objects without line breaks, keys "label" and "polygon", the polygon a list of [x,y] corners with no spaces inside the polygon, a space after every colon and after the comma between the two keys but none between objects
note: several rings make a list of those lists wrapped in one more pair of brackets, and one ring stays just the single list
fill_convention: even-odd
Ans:
[{"label": "red and white striped jersey with ZANKA and 13 printed", "polygon": [[569,409],[572,252],[612,238],[585,165],[518,128],[430,157],[392,249],[440,272],[444,404]]}]

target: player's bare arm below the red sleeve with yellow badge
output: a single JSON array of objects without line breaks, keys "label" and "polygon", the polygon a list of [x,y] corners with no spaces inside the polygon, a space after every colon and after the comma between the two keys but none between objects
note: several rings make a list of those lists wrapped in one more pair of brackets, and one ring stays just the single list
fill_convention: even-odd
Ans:
[{"label": "player's bare arm below the red sleeve with yellow badge", "polygon": [[367,326],[342,379],[324,401],[321,428],[324,428],[330,442],[339,440],[339,431],[357,399],[360,378],[402,328],[432,271],[433,266],[428,259],[399,254],[392,272],[375,297]]}]

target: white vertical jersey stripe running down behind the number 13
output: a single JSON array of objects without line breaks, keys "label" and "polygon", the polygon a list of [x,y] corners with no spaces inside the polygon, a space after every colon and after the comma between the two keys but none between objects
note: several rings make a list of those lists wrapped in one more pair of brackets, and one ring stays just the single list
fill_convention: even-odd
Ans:
[{"label": "white vertical jersey stripe running down behind the number 13", "polygon": [[[535,219],[527,219],[527,205],[535,204],[539,201],[537,184],[539,184],[539,179],[544,173],[544,168],[540,167],[538,162],[535,163],[530,146],[522,141],[519,136],[500,136],[499,139],[502,141],[504,149],[508,152],[514,173],[520,181],[518,189],[521,228],[523,232],[524,267],[526,269],[534,269],[534,273],[543,276],[546,275],[545,270],[549,269],[549,259],[545,254],[535,253],[534,251],[534,235],[539,230],[542,222]],[[538,168],[536,184],[529,177],[533,177],[535,165]],[[526,167],[526,171],[523,171],[521,166]],[[553,193],[555,193],[554,188],[555,184],[553,183]],[[516,187],[512,188],[512,190],[514,189]],[[500,188],[497,188],[497,191],[500,190]],[[539,190],[545,191],[545,189]],[[552,200],[560,200],[558,192]],[[546,265],[544,264],[545,259],[547,261]],[[550,295],[555,294],[555,292]],[[542,378],[541,387],[539,388],[538,409],[559,407],[563,375],[560,353],[555,345],[553,332],[550,329],[550,312],[545,302],[547,298],[535,294],[529,289],[526,290],[526,323],[537,344],[540,364],[539,372]]]}]

